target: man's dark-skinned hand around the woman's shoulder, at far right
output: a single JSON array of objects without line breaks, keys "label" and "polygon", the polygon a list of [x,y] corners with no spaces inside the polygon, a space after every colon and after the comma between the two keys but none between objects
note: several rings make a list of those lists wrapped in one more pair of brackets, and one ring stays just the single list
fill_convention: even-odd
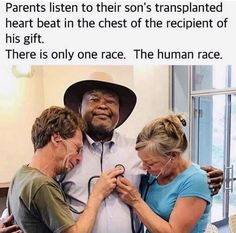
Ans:
[{"label": "man's dark-skinned hand around the woman's shoulder, at far right", "polygon": [[210,189],[212,190],[211,195],[216,195],[220,191],[222,183],[224,181],[223,171],[212,166],[202,166],[201,169],[207,172],[208,184]]}]

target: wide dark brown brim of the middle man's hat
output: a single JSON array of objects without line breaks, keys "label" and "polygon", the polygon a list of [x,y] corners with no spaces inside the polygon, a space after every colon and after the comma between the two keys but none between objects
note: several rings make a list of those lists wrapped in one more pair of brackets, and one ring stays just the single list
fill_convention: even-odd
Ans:
[{"label": "wide dark brown brim of the middle man's hat", "polygon": [[119,121],[117,127],[123,124],[129,117],[136,105],[135,93],[125,86],[119,84],[97,81],[97,80],[84,80],[72,84],[67,88],[64,94],[64,104],[66,107],[75,112],[79,112],[79,107],[82,102],[83,95],[90,90],[101,89],[114,92],[119,97]]}]

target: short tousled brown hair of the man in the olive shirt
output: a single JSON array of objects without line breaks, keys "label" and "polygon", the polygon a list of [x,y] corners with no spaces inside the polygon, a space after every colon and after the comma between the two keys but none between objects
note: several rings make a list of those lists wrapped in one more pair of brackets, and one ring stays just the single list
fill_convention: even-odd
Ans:
[{"label": "short tousled brown hair of the man in the olive shirt", "polygon": [[63,139],[72,138],[78,128],[84,130],[84,124],[81,117],[72,110],[57,106],[47,108],[32,126],[34,150],[43,148],[53,134],[59,134]]}]

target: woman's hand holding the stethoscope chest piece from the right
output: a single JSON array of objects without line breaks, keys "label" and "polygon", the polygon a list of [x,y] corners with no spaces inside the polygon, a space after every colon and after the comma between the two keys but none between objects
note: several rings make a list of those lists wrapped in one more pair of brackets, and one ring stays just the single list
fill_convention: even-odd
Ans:
[{"label": "woman's hand holding the stethoscope chest piece from the right", "polygon": [[116,191],[119,193],[121,200],[130,206],[134,206],[135,203],[141,200],[139,191],[125,177],[119,176],[117,178]]}]

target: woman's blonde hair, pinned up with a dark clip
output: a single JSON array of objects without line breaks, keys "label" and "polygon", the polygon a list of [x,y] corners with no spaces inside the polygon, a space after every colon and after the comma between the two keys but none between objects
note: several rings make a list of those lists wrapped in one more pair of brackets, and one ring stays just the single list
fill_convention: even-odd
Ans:
[{"label": "woman's blonde hair, pinned up with a dark clip", "polygon": [[186,121],[183,114],[170,114],[159,117],[147,124],[139,133],[136,150],[147,147],[151,153],[168,156],[170,152],[183,153],[188,146],[183,127]]}]

